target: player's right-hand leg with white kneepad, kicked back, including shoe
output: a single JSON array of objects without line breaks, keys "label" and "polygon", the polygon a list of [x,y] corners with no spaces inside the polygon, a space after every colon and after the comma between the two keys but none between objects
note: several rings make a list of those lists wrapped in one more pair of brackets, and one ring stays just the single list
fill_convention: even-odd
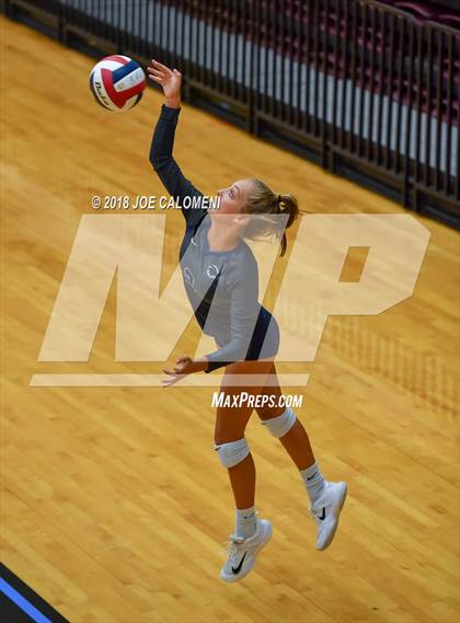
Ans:
[{"label": "player's right-hand leg with white kneepad, kicked back, including shoe", "polygon": [[[269,371],[271,379],[276,379],[275,364]],[[292,461],[299,469],[310,498],[311,512],[318,526],[317,549],[325,550],[332,542],[338,524],[338,516],[346,497],[345,483],[332,483],[324,480],[306,429],[290,407],[278,406],[281,389],[279,383],[266,385],[262,394],[273,396],[265,406],[257,407],[257,415],[269,432],[279,439]]]}]

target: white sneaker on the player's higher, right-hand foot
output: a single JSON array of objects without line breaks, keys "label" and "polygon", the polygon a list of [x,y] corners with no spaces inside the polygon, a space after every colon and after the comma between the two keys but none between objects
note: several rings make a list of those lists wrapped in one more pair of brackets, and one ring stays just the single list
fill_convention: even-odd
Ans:
[{"label": "white sneaker on the player's higher, right-hand foot", "polygon": [[331,545],[345,498],[346,483],[325,482],[321,496],[311,507],[318,527],[317,550],[325,550]]}]

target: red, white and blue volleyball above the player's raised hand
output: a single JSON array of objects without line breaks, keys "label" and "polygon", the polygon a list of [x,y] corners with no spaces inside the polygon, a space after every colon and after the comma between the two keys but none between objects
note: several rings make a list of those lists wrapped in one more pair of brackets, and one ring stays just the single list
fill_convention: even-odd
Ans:
[{"label": "red, white and blue volleyball above the player's raised hand", "polygon": [[97,104],[107,111],[124,113],[141,99],[146,74],[128,56],[106,56],[91,70],[90,88]]}]

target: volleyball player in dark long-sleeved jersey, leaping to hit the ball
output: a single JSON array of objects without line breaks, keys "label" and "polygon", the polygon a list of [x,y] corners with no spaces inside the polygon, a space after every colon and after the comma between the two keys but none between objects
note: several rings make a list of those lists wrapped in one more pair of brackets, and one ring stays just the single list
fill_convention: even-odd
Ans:
[{"label": "volleyball player in dark long-sleeved jersey, leaping to hit the ball", "polygon": [[[185,197],[203,197],[184,177],[172,155],[181,109],[182,76],[176,69],[171,70],[156,60],[151,61],[148,73],[151,80],[161,84],[165,95],[153,134],[150,162],[181,206]],[[244,239],[261,233],[278,234],[284,255],[287,241],[285,228],[279,231],[279,215],[287,220],[286,227],[290,227],[298,216],[297,200],[292,195],[278,195],[264,182],[253,178],[239,180],[218,191],[217,195],[219,210],[182,209],[185,234],[180,252],[187,297],[202,330],[215,337],[217,349],[199,359],[179,358],[172,370],[164,370],[168,374],[164,385],[171,385],[186,374],[225,367],[222,390],[227,395],[258,391],[279,399],[279,384],[267,384],[257,390],[235,388],[229,387],[227,378],[256,373],[276,379],[274,358],[279,346],[279,330],[276,320],[257,301],[257,265]],[[263,219],[251,219],[252,215],[262,215]],[[221,218],[223,216],[226,218]],[[279,404],[277,400],[275,403]],[[234,532],[230,537],[228,559],[220,572],[225,581],[237,581],[246,576],[257,553],[272,537],[271,522],[260,519],[254,508],[255,468],[244,438],[252,411],[249,406],[222,406],[216,414],[215,449],[228,470],[235,501]],[[264,406],[256,412],[300,471],[318,528],[317,549],[325,550],[337,528],[346,484],[324,480],[308,435],[290,407]]]}]

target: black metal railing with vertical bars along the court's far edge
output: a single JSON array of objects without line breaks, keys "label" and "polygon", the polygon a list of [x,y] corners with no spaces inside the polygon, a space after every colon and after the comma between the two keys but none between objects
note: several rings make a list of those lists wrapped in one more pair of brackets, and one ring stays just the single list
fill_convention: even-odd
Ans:
[{"label": "black metal railing with vertical bars along the court's far edge", "polygon": [[377,0],[4,0],[95,55],[181,68],[184,99],[460,223],[460,31]]}]

